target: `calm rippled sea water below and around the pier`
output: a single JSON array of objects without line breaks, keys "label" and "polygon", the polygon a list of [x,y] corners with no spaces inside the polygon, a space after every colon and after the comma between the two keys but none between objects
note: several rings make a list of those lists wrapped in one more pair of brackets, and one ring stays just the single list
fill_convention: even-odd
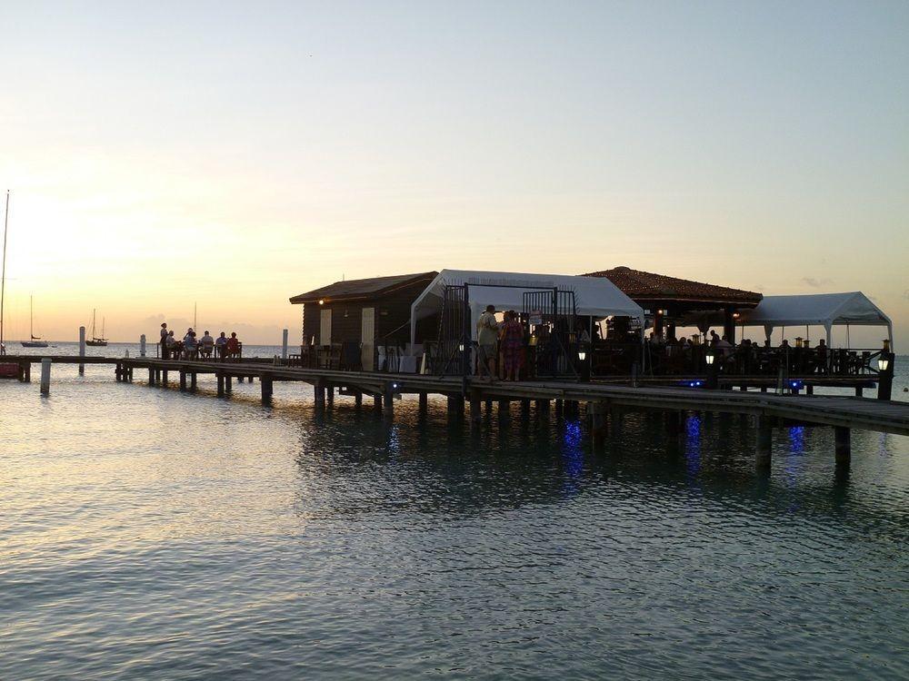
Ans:
[{"label": "calm rippled sea water below and around the pier", "polygon": [[909,439],[112,374],[0,383],[0,678],[909,677]]}]

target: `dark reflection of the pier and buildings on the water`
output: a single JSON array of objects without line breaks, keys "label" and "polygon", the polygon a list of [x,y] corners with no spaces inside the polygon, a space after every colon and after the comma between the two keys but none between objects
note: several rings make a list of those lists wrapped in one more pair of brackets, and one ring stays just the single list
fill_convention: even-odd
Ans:
[{"label": "dark reflection of the pier and buildings on the water", "polygon": [[[831,467],[835,484],[824,484],[816,456],[806,458],[794,446],[793,429],[802,427],[780,429],[774,439],[774,455],[784,461],[785,474],[755,479],[746,463],[754,426],[738,416],[689,416],[685,439],[677,446],[659,414],[628,413],[621,429],[594,448],[590,439],[579,439],[578,419],[550,414],[522,424],[521,410],[513,407],[507,419],[493,411],[483,429],[466,429],[457,421],[446,423],[444,409],[436,410],[435,403],[428,423],[420,419],[415,403],[406,407],[391,425],[347,408],[305,419],[300,470],[314,480],[302,482],[305,506],[312,507],[311,495],[322,495],[326,518],[362,520],[406,510],[458,520],[526,505],[570,503],[607,484],[620,506],[623,499],[640,504],[642,498],[654,511],[706,504],[721,513],[757,514],[769,521],[847,522],[856,534],[874,524],[878,534],[909,538],[905,515],[877,505],[874,498],[855,496],[842,472]],[[297,414],[287,411],[282,418],[293,423]],[[801,438],[814,452],[832,439],[828,430],[812,428],[803,429]],[[855,434],[855,444],[874,451],[878,438],[862,431]],[[335,454],[314,461],[304,447]],[[853,475],[867,475],[882,460],[890,459],[871,454],[856,459]],[[811,478],[801,474],[794,479],[790,467],[803,465],[811,466]],[[354,503],[352,489],[358,490]]]}]

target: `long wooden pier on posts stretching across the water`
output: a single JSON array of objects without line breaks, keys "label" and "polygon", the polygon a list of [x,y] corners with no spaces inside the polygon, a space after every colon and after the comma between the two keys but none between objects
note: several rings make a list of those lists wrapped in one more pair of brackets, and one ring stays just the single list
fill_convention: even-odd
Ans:
[{"label": "long wooden pier on posts stretching across the water", "polygon": [[[6,363],[20,367],[20,380],[30,380],[30,366],[40,363],[40,355],[6,356]],[[835,460],[847,466],[850,459],[851,429],[873,430],[909,436],[909,403],[873,400],[859,397],[830,397],[816,395],[775,395],[767,392],[741,390],[704,390],[666,386],[616,385],[614,383],[574,382],[564,380],[506,382],[496,380],[464,380],[455,377],[419,374],[392,374],[375,371],[339,371],[306,369],[276,364],[271,360],[242,362],[158,360],[154,358],[105,358],[50,356],[55,364],[112,365],[115,379],[131,382],[135,372],[140,378],[147,375],[149,386],[168,383],[170,377],[179,381],[181,390],[196,390],[197,377],[214,375],[219,397],[232,391],[233,381],[258,380],[263,403],[270,403],[277,381],[304,382],[314,388],[316,409],[334,404],[335,394],[350,397],[357,406],[364,397],[371,398],[375,410],[385,419],[394,419],[395,397],[419,396],[419,410],[428,408],[427,396],[447,398],[449,414],[455,418],[467,415],[473,426],[481,424],[484,404],[497,402],[499,410],[507,410],[518,401],[526,410],[531,404],[538,413],[548,413],[550,405],[557,412],[580,416],[582,406],[589,432],[602,439],[607,419],[613,422],[624,411],[661,411],[667,415],[667,429],[678,432],[686,412],[715,412],[744,414],[754,418],[757,435],[755,460],[758,468],[770,465],[772,430],[783,424],[829,426],[835,429]],[[147,372],[147,374],[146,374]]]}]

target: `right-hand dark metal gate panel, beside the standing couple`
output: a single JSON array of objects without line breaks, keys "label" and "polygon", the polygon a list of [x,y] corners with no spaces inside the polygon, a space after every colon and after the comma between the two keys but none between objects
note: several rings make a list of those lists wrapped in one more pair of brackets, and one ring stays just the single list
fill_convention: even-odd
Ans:
[{"label": "right-hand dark metal gate panel, beside the standing couple", "polygon": [[577,307],[574,291],[524,292],[524,318],[534,331],[528,360],[536,376],[577,378]]}]

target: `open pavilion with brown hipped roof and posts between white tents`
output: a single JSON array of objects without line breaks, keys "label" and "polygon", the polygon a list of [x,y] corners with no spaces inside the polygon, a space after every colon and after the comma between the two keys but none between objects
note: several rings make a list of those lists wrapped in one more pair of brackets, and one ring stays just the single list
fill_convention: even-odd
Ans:
[{"label": "open pavilion with brown hipped roof and posts between white tents", "polygon": [[740,310],[750,310],[764,298],[754,291],[742,291],[726,286],[678,279],[665,274],[614,267],[594,271],[587,277],[604,277],[612,281],[626,296],[644,308],[653,321],[658,338],[675,338],[675,326],[695,311],[721,311],[724,335],[735,338],[735,320]]}]

